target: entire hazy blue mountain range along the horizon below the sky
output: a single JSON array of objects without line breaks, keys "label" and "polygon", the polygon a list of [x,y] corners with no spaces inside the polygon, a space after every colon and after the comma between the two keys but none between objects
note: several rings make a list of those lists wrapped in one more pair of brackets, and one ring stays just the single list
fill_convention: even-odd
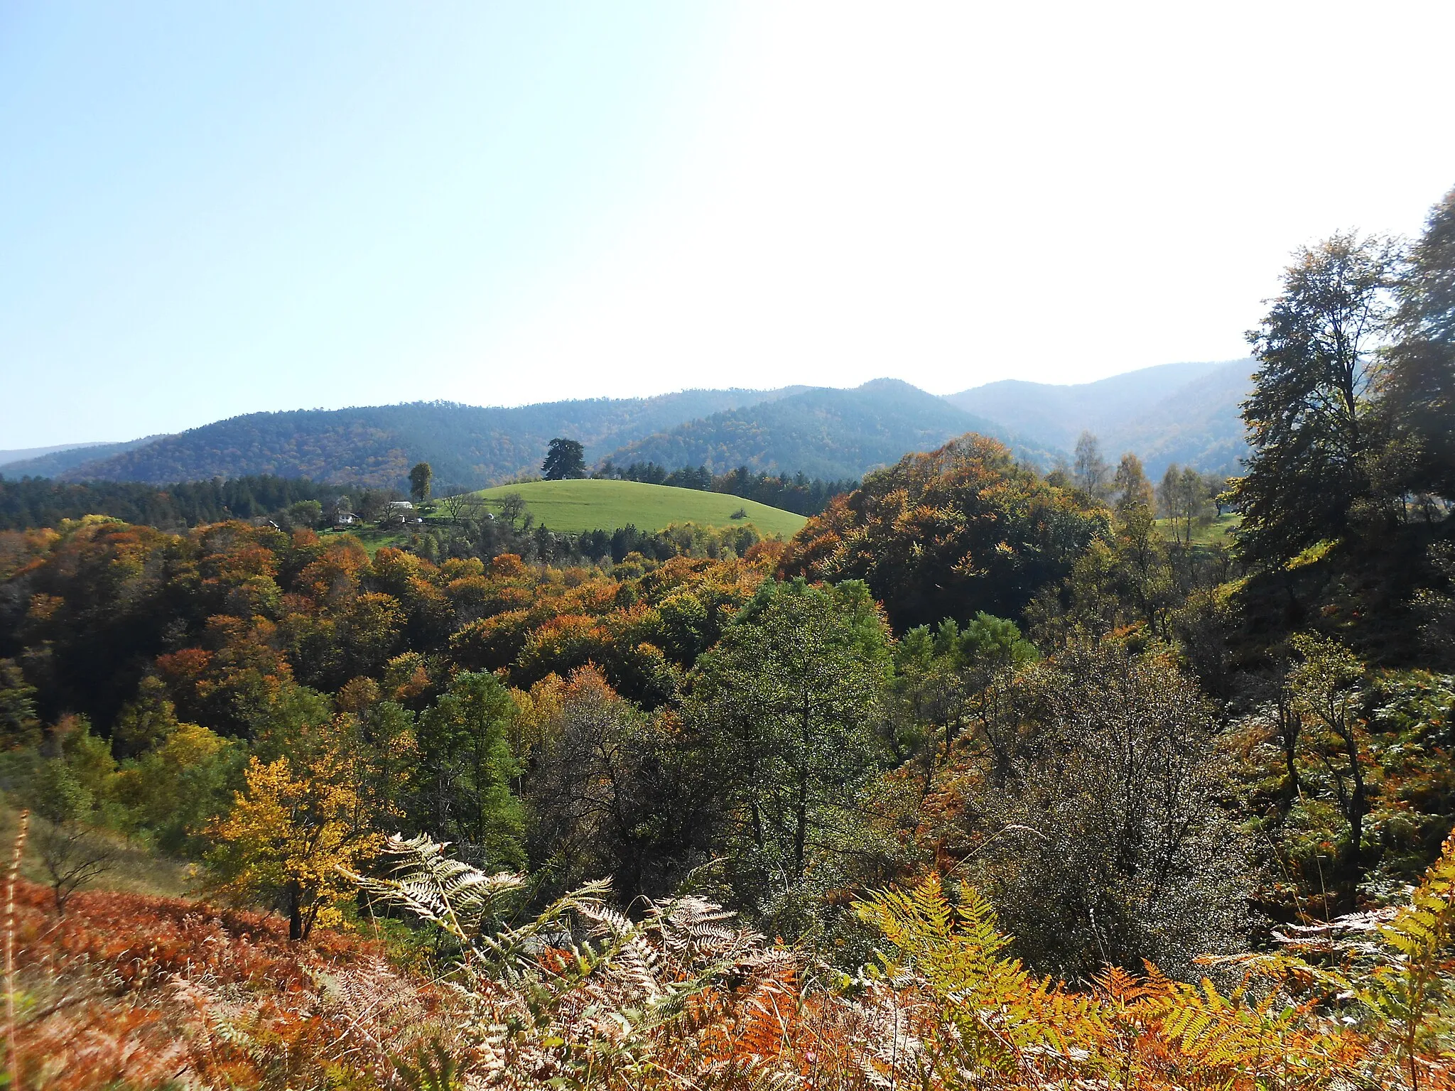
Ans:
[{"label": "entire hazy blue mountain range along the horizon below the sky", "polygon": [[537,473],[553,438],[589,464],[653,461],[722,473],[861,477],[965,432],[1005,442],[1042,468],[1067,461],[1083,429],[1107,458],[1136,451],[1152,476],[1170,463],[1237,471],[1238,406],[1253,362],[1164,364],[1094,383],[1001,380],[944,397],[896,378],[860,387],[698,388],[646,399],[530,406],[413,401],[246,413],[166,436],[70,447],[0,465],[7,477],[170,484],[281,476],[402,487],[416,461],[438,486],[477,489]]}]

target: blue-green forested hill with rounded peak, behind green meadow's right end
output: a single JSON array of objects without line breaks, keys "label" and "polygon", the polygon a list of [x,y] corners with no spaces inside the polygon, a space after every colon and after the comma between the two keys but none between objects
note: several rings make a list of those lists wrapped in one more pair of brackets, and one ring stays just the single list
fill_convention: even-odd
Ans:
[{"label": "blue-green forested hill with rounded peak, behind green meadow's right end", "polygon": [[965,432],[1005,439],[1021,457],[1048,457],[1033,444],[1020,444],[1014,429],[892,378],[726,409],[626,444],[608,457],[617,465],[652,461],[706,465],[714,473],[746,465],[810,477],[861,477],[899,461],[906,451],[928,451]]}]

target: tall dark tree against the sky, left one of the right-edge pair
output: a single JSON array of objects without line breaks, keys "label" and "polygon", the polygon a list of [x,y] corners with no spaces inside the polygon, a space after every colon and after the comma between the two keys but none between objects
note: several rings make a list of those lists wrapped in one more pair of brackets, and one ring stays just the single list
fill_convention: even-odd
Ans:
[{"label": "tall dark tree against the sky, left one of the right-edge pair", "polygon": [[1397,257],[1392,243],[1353,234],[1299,250],[1247,335],[1259,361],[1243,403],[1253,452],[1234,503],[1248,560],[1276,566],[1337,540],[1350,509],[1372,499],[1369,460],[1382,441],[1372,399]]}]

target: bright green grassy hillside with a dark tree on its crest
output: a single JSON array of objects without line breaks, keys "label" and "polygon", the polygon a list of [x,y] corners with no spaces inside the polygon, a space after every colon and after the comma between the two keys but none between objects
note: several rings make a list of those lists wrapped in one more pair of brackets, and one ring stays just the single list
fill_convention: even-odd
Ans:
[{"label": "bright green grassy hillside with a dark tree on its crest", "polygon": [[[486,500],[519,493],[525,506],[553,531],[610,531],[631,524],[639,531],[659,531],[674,522],[703,527],[738,527],[751,522],[764,534],[792,537],[808,522],[802,515],[745,500],[728,493],[704,493],[640,481],[528,481],[486,489]],[[735,512],[745,518],[732,518]]]}]

